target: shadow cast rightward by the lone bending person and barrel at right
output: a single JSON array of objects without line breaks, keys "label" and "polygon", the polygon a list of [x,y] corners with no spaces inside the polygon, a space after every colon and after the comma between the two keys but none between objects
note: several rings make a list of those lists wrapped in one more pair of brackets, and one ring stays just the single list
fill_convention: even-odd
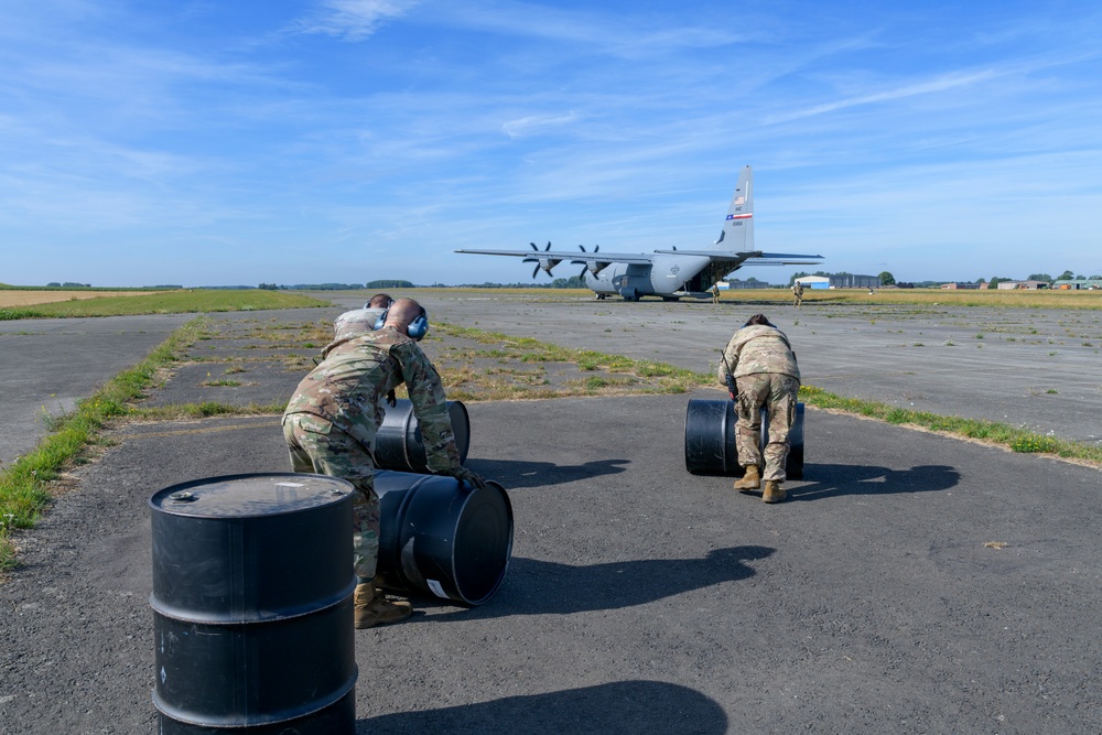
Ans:
[{"label": "shadow cast rightward by the lone bending person and barrel at right", "polygon": [[814,482],[789,486],[788,498],[799,502],[843,495],[894,495],[936,493],[955,487],[960,472],[948,465],[916,465],[910,469],[888,469],[869,465],[807,465],[804,477]]}]

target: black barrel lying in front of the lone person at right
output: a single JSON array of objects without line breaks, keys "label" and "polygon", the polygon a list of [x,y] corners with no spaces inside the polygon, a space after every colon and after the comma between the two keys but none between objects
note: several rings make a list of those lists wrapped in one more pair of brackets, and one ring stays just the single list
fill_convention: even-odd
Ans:
[{"label": "black barrel lying in front of the lone person at right", "polygon": [[[735,445],[735,403],[730,400],[692,399],[685,411],[685,469],[693,475],[742,477]],[[761,435],[758,445],[769,443],[769,412],[761,409]],[[803,478],[803,403],[796,404],[796,421],[788,432],[789,479]]]}]

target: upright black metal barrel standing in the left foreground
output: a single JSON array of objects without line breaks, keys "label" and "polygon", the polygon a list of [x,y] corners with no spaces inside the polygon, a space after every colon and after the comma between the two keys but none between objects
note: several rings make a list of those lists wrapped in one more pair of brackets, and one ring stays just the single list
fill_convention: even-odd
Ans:
[{"label": "upright black metal barrel standing in the left foreground", "polygon": [[150,498],[160,735],[355,731],[353,493],[270,473]]}]

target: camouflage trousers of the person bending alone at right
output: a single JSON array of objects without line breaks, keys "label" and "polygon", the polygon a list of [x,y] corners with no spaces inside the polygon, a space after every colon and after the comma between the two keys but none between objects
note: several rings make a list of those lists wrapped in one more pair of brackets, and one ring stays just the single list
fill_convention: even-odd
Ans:
[{"label": "camouflage trousers of the person bending alone at right", "polygon": [[785,463],[788,461],[788,431],[796,421],[797,393],[800,381],[781,372],[756,372],[736,378],[738,400],[735,401],[735,447],[738,464],[746,467],[761,465],[763,452],[758,447],[761,434],[761,408],[769,411],[769,441],[765,446],[764,479],[785,482]]}]

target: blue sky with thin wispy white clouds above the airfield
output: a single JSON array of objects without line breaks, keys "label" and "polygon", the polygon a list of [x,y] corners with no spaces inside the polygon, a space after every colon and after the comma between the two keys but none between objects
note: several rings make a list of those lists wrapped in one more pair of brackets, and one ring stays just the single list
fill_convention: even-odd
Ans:
[{"label": "blue sky with thin wispy white clouds above the airfield", "polygon": [[702,247],[746,164],[828,271],[1090,275],[1102,6],[4,0],[0,161],[12,284],[527,281],[452,251]]}]

